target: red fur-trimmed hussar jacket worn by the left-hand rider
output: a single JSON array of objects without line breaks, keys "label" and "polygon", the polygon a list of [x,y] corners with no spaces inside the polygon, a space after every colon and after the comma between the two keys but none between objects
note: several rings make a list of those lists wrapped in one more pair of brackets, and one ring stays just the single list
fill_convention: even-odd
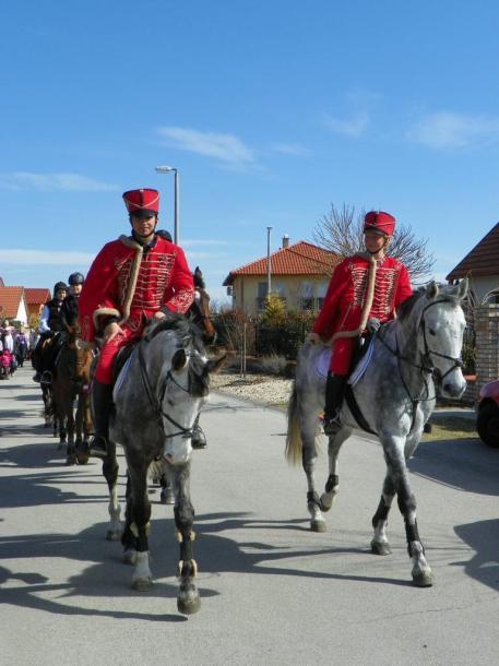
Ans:
[{"label": "red fur-trimmed hussar jacket worn by the left-hand rider", "polygon": [[186,255],[169,240],[155,237],[151,247],[121,236],[95,258],[80,296],[81,336],[93,342],[99,319],[115,316],[136,334],[161,308],[187,312],[194,298]]}]

